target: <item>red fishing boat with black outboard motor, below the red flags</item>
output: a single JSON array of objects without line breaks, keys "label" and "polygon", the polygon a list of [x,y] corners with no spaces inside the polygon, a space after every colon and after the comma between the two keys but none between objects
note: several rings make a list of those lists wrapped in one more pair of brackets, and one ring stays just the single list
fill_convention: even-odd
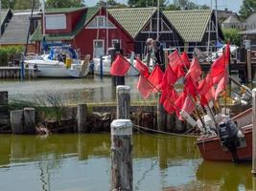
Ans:
[{"label": "red fishing boat with black outboard motor, below the red flags", "polygon": [[[234,123],[219,125],[216,134],[201,135],[197,139],[198,149],[203,159],[241,161],[252,159],[252,109],[232,117]],[[226,120],[227,118],[224,118]],[[230,127],[231,125],[235,125]]]}]

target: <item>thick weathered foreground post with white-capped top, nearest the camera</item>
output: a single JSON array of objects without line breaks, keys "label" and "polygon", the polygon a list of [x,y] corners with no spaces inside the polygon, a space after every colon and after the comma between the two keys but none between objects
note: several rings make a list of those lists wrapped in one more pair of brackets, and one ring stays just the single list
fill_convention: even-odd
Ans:
[{"label": "thick weathered foreground post with white-capped top, nearest the camera", "polygon": [[132,123],[111,122],[111,190],[132,191]]}]

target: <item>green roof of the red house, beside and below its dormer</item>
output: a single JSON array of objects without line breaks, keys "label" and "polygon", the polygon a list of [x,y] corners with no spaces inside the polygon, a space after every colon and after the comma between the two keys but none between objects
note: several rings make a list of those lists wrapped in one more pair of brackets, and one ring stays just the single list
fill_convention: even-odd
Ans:
[{"label": "green roof of the red house, beside and below its dormer", "polygon": [[[87,8],[86,11],[83,11],[81,14],[81,19],[77,23],[76,27],[72,32],[68,33],[58,33],[58,34],[46,34],[45,39],[48,41],[54,41],[54,40],[72,40],[78,32],[81,32],[84,25],[87,24],[87,22],[93,17],[94,14],[99,11],[99,8]],[[41,26],[39,25],[35,32],[33,33],[31,37],[31,41],[41,41],[43,38]]]}]

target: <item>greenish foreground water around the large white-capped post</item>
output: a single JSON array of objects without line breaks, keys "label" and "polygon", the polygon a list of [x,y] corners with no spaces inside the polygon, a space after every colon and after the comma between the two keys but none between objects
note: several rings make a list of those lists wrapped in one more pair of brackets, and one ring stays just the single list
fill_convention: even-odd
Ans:
[{"label": "greenish foreground water around the large white-capped post", "polygon": [[[134,190],[253,190],[251,164],[199,158],[195,138],[133,136]],[[110,137],[0,136],[0,190],[110,190]]]}]

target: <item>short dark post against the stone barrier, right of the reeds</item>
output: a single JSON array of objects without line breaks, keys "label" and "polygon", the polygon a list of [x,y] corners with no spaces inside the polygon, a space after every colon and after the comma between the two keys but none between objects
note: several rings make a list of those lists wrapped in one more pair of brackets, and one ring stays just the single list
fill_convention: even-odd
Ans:
[{"label": "short dark post against the stone barrier, right of the reeds", "polygon": [[86,112],[87,105],[86,104],[78,104],[78,132],[85,133],[88,132],[88,129],[85,125],[86,122]]}]

